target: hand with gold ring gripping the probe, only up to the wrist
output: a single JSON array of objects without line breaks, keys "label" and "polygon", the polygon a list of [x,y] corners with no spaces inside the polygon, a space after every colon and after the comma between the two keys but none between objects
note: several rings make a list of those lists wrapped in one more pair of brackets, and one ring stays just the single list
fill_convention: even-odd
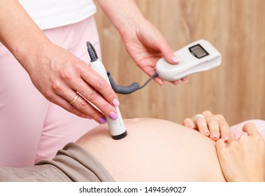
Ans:
[{"label": "hand with gold ring gripping the probe, only up to the wrist", "polygon": [[[25,65],[24,61],[20,63]],[[110,85],[85,62],[63,48],[52,43],[43,45],[38,55],[30,55],[30,61],[24,67],[32,83],[50,102],[98,123],[106,123],[102,113],[113,120],[117,118],[113,106],[118,106],[119,102]]]}]

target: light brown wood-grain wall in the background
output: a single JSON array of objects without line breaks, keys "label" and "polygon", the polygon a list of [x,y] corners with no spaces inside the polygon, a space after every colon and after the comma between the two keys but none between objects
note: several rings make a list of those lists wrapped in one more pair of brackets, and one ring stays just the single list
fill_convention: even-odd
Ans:
[{"label": "light brown wood-grain wall in the background", "polygon": [[[126,0],[124,0],[126,1]],[[204,110],[221,113],[230,125],[265,120],[265,1],[136,0],[145,18],[173,50],[204,38],[222,54],[221,66],[189,76],[188,83],[118,95],[123,118],[150,117],[182,123]],[[143,84],[148,76],[132,62],[120,35],[98,8],[103,63],[115,82]],[[111,43],[111,44],[110,44]],[[111,54],[111,55],[110,55]]]}]

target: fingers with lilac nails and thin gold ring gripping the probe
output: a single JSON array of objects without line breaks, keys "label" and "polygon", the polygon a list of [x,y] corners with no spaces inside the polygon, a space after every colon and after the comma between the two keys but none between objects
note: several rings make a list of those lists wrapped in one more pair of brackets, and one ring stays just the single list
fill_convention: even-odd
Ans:
[{"label": "fingers with lilac nails and thin gold ring gripping the probe", "polygon": [[120,103],[108,82],[86,64],[80,67],[80,77],[68,83],[80,95],[78,102],[73,106],[99,123],[106,121],[99,111],[108,118],[116,120],[117,111],[114,106],[119,106]]}]

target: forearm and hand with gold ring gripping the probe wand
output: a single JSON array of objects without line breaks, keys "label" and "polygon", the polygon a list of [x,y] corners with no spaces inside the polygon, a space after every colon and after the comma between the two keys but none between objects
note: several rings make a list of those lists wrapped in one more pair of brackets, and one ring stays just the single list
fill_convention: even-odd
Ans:
[{"label": "forearm and hand with gold ring gripping the probe wand", "polygon": [[99,123],[106,123],[102,113],[117,118],[113,107],[119,104],[117,95],[106,80],[85,62],[52,44],[19,1],[0,2],[0,19],[5,21],[0,22],[0,41],[29,73],[44,97],[71,113]]}]

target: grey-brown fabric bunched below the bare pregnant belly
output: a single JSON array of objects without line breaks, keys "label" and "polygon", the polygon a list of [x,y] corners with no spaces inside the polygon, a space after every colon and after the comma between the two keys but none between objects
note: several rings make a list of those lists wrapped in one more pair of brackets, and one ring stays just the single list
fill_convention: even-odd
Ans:
[{"label": "grey-brown fabric bunched below the bare pregnant belly", "polygon": [[93,155],[75,143],[69,143],[52,160],[33,167],[0,168],[0,181],[114,181]]}]

